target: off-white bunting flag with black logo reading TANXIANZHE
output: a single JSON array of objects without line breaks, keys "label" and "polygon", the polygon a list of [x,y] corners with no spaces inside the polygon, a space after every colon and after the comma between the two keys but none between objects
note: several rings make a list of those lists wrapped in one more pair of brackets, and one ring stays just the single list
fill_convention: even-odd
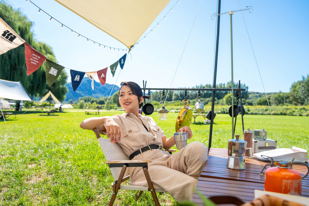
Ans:
[{"label": "off-white bunting flag with black logo reading TANXIANZHE", "polygon": [[23,44],[23,40],[14,30],[0,18],[0,55]]}]

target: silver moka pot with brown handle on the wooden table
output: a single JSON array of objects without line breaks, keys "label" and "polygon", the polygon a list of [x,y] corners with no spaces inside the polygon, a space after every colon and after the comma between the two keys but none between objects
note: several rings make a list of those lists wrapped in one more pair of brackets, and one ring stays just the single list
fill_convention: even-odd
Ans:
[{"label": "silver moka pot with brown handle on the wooden table", "polygon": [[236,139],[231,139],[228,142],[228,158],[226,167],[233,170],[244,170],[245,158],[243,154],[245,153],[247,142],[240,140],[239,135],[235,135]]}]

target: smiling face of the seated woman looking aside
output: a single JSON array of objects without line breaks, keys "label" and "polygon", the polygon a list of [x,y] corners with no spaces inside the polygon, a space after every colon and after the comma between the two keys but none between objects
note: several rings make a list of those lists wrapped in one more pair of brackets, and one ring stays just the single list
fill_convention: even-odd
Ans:
[{"label": "smiling face of the seated woman looking aside", "polygon": [[141,101],[133,94],[129,86],[121,87],[119,91],[119,104],[127,113],[138,111]]}]

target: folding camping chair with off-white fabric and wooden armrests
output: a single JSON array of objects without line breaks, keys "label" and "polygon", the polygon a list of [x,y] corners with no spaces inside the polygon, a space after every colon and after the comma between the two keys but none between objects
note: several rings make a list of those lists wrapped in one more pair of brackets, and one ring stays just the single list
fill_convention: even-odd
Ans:
[{"label": "folding camping chair with off-white fabric and wooden armrests", "polygon": [[[118,144],[113,144],[109,139],[103,139],[99,133],[98,128],[94,128],[93,131],[95,132],[95,135],[97,137],[97,140],[99,141],[99,145],[103,151],[103,154],[106,159],[106,164],[110,167],[111,173],[113,175],[113,178],[115,182],[112,183],[113,188],[113,194],[111,197],[111,200],[109,201],[109,206],[112,206],[117,192],[119,189],[121,190],[136,190],[136,201],[139,199],[139,197],[142,195],[143,191],[150,191],[152,198],[155,202],[156,206],[159,206],[159,200],[156,195],[157,192],[166,192],[164,189],[154,189],[154,186],[151,182],[147,163],[151,162],[151,160],[129,160],[128,156],[125,155],[123,150]],[[176,150],[167,150],[169,153],[175,152]],[[122,182],[128,180],[130,178],[129,172],[126,170],[127,167],[143,167],[143,171],[148,183],[148,187],[144,186],[132,186],[132,185],[121,185]],[[129,184],[130,184],[129,180]],[[138,194],[139,191],[139,194]]]}]

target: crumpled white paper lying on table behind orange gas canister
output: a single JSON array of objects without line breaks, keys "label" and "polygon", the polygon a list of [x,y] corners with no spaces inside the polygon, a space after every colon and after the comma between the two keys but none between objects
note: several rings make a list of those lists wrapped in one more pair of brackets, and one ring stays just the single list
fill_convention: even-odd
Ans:
[{"label": "crumpled white paper lying on table behind orange gas canister", "polygon": [[[307,162],[307,150],[301,149],[298,147],[292,147],[292,149],[289,148],[279,148],[279,149],[273,149],[269,151],[263,151],[259,153],[254,153],[253,156],[259,158],[259,159],[265,159],[261,155],[272,157],[275,161],[292,161],[293,158],[294,162]],[[270,159],[269,159],[270,160]]]}]

